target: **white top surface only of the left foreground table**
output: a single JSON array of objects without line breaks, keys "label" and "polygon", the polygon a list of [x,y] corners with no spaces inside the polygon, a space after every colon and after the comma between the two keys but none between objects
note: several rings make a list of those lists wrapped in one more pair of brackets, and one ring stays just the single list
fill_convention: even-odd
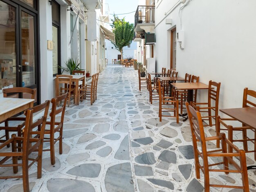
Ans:
[{"label": "white top surface only of the left foreground table", "polygon": [[34,99],[0,98],[0,115],[31,102],[34,102]]}]

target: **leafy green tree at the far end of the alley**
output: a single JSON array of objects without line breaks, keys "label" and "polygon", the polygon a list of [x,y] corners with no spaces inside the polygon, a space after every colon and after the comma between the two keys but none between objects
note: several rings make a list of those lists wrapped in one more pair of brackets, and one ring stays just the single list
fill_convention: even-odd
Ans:
[{"label": "leafy green tree at the far end of the alley", "polygon": [[111,20],[113,25],[113,33],[115,34],[115,42],[111,41],[115,45],[116,49],[121,52],[121,59],[123,59],[123,48],[132,43],[134,24],[126,22],[125,19],[119,19],[114,15],[114,19]]}]

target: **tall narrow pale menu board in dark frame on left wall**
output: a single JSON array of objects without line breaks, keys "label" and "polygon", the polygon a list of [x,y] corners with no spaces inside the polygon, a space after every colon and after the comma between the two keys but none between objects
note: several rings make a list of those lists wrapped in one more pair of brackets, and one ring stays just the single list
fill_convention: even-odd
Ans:
[{"label": "tall narrow pale menu board in dark frame on left wall", "polygon": [[58,28],[52,26],[52,70],[53,74],[58,74]]}]

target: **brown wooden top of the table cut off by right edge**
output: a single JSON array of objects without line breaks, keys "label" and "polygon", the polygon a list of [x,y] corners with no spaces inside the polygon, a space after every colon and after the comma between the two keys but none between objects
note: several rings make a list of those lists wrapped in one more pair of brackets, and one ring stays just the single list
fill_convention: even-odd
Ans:
[{"label": "brown wooden top of the table cut off by right edge", "polygon": [[220,112],[237,119],[249,127],[256,128],[256,107],[220,109]]}]

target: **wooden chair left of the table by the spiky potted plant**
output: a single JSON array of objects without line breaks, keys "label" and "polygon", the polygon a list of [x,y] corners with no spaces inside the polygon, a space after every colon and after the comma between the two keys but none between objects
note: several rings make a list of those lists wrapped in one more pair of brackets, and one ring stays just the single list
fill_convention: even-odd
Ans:
[{"label": "wooden chair left of the table by the spiky potted plant", "polygon": [[[74,95],[75,89],[72,88],[72,86],[71,86],[72,78],[73,78],[73,76],[71,76],[71,75],[56,75],[56,85],[57,85],[56,92],[58,93],[58,94],[56,94],[56,97],[68,93],[67,107],[70,107],[71,95],[73,95],[73,97],[75,97],[75,95]],[[59,85],[64,85],[64,87],[59,88]]]}]

